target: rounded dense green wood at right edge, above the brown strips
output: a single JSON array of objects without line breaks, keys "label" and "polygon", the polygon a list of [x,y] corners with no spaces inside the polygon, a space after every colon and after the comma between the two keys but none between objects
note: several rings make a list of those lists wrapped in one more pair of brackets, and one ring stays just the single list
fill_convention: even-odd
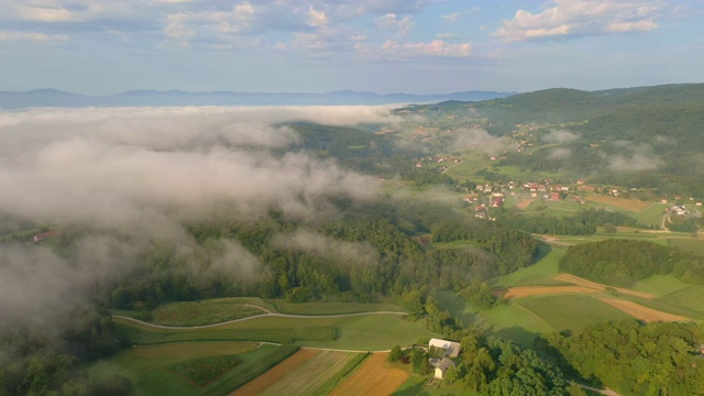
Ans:
[{"label": "rounded dense green wood at right edge, above the brown strips", "polygon": [[610,239],[570,246],[560,270],[614,286],[632,286],[652,275],[673,274],[704,284],[704,256],[647,241]]}]

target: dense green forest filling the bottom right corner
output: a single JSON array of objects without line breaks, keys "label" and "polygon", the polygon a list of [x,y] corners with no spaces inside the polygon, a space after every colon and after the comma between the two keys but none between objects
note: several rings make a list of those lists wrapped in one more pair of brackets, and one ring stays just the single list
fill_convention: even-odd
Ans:
[{"label": "dense green forest filling the bottom right corner", "polygon": [[579,334],[553,333],[538,349],[584,378],[623,395],[702,395],[704,364],[696,323],[605,322]]}]

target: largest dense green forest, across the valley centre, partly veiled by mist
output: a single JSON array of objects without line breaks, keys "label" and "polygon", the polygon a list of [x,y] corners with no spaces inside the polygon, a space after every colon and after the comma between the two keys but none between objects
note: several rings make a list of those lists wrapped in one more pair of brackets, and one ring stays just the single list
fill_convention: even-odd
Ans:
[{"label": "largest dense green forest, across the valley centre, partly veiled by mist", "polygon": [[[264,265],[258,282],[227,276],[194,282],[183,270],[193,261],[179,255],[175,246],[154,245],[145,253],[144,265],[127,277],[129,282],[116,285],[107,297],[108,306],[151,309],[168,300],[243,295],[292,301],[375,301],[409,288],[462,288],[473,279],[508,274],[530,265],[538,251],[538,242],[524,232],[458,217],[453,209],[432,202],[391,199],[354,204],[334,220],[304,222],[271,213],[263,221],[194,223],[189,230],[202,250],[196,256],[207,258],[205,252],[218,249],[222,241],[240,243]],[[280,242],[301,230],[323,245]],[[431,232],[433,241],[471,245],[424,250],[413,237],[425,232]],[[358,249],[358,254],[333,254],[324,244]]]}]

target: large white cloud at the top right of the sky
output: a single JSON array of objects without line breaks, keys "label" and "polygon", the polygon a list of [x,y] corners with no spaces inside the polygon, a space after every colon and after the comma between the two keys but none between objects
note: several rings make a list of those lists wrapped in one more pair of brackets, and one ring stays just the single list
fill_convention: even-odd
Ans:
[{"label": "large white cloud at the top right of the sky", "polygon": [[552,0],[538,13],[516,11],[495,33],[506,41],[580,37],[658,28],[660,1]]}]

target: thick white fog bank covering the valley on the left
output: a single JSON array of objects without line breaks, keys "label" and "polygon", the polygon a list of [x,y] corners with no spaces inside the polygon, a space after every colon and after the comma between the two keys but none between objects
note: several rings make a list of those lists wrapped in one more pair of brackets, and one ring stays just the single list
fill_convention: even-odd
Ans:
[{"label": "thick white fog bank covering the valley on the left", "polygon": [[[394,119],[370,107],[0,112],[0,218],[86,231],[70,260],[44,242],[0,244],[0,323],[58,320],[139,265],[140,252],[154,242],[178,246],[196,282],[255,280],[261,263],[242,245],[202,250],[185,224],[250,221],[271,210],[319,217],[331,210],[331,197],[374,196],[373,178],[287,152],[298,138],[282,125],[286,121]],[[306,237],[289,240],[304,246]],[[364,253],[363,246],[323,242],[308,243],[321,252]]]}]

